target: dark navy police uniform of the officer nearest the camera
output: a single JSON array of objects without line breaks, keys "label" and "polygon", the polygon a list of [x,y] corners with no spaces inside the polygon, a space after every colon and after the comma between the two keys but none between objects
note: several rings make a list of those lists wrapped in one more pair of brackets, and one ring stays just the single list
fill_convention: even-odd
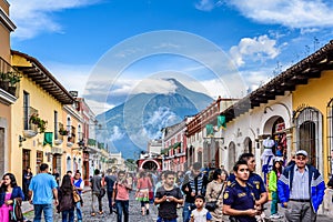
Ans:
[{"label": "dark navy police uniform of the officer nearest the camera", "polygon": [[[254,189],[246,182],[246,186],[241,186],[238,181],[231,182],[223,193],[223,204],[230,205],[231,209],[244,211],[254,209]],[[248,215],[232,216],[240,222],[256,222],[255,218]]]}]

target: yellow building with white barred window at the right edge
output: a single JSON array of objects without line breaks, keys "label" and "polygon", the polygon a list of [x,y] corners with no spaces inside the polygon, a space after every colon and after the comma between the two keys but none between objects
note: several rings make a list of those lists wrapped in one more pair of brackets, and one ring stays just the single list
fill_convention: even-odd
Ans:
[{"label": "yellow building with white barred window at the right edge", "polygon": [[299,62],[292,95],[294,148],[306,150],[325,181],[333,169],[333,41]]}]

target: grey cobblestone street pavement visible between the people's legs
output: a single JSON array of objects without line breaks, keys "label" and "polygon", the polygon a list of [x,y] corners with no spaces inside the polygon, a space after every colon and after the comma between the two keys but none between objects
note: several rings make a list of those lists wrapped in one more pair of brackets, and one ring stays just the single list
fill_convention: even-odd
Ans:
[{"label": "grey cobblestone street pavement visible between the people's legs", "polygon": [[[84,193],[82,195],[83,198],[83,222],[97,222],[97,221],[103,221],[103,222],[117,222],[117,214],[109,214],[109,206],[108,206],[108,198],[104,196],[103,200],[103,211],[104,214],[95,216],[91,216],[91,192],[89,188],[84,189]],[[265,211],[266,218],[270,215],[270,202],[265,204],[268,210]],[[134,192],[132,191],[130,193],[130,222],[153,222],[158,219],[158,209],[153,204],[150,204],[150,214],[149,215],[141,215],[141,205],[138,201],[134,200]],[[26,212],[24,216],[27,221],[33,221],[33,206],[29,204],[28,202],[23,202],[22,204],[22,211]],[[53,219],[56,222],[61,221],[61,214],[56,213],[56,210],[53,211]],[[284,210],[279,206],[279,212],[283,214]],[[178,215],[179,222],[182,222],[182,208],[178,209]],[[279,220],[269,220],[265,221],[272,221],[272,222],[282,222],[284,219],[281,218]],[[43,220],[42,220],[43,221]],[[329,218],[327,215],[319,214],[317,216],[319,222],[332,222],[333,218]]]}]

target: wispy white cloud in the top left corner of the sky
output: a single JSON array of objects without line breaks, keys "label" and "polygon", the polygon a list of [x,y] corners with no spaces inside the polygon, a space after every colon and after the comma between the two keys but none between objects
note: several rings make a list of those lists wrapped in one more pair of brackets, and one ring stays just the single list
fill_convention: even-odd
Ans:
[{"label": "wispy white cloud in the top left corner of the sky", "polygon": [[42,32],[62,32],[53,12],[98,2],[101,0],[10,0],[10,17],[17,26],[13,37],[31,39]]}]

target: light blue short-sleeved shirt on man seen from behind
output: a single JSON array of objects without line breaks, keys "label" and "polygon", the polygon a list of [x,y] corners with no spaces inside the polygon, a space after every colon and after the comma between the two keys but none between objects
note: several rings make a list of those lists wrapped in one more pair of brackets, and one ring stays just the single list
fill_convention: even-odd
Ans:
[{"label": "light blue short-sleeved shirt on man seen from behind", "polygon": [[33,204],[52,204],[52,190],[58,186],[53,175],[39,173],[30,182],[29,190],[33,192]]}]

